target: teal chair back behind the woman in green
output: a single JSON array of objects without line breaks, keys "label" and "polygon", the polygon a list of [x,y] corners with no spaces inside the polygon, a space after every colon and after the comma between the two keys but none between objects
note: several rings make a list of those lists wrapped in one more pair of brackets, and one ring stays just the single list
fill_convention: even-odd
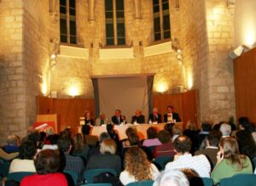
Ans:
[{"label": "teal chair back behind the woman in green", "polygon": [[231,178],[224,178],[220,180],[220,186],[255,186],[255,174],[237,174]]}]

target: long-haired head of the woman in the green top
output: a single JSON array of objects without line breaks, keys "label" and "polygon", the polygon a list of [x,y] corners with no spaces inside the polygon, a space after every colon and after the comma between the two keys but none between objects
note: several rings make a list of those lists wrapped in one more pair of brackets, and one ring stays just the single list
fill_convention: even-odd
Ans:
[{"label": "long-haired head of the woman in the green top", "polygon": [[241,155],[235,138],[221,138],[219,142],[219,149],[224,156],[224,159],[229,161],[232,165],[238,165],[239,170],[242,169],[242,163],[240,160]]}]

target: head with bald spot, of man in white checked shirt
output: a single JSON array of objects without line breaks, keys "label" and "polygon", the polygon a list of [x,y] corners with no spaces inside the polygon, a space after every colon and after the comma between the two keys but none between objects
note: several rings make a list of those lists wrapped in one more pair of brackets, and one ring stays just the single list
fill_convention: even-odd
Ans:
[{"label": "head with bald spot, of man in white checked shirt", "polygon": [[179,136],[174,140],[173,145],[177,153],[183,155],[185,153],[189,153],[191,149],[191,140],[189,139],[189,137]]}]

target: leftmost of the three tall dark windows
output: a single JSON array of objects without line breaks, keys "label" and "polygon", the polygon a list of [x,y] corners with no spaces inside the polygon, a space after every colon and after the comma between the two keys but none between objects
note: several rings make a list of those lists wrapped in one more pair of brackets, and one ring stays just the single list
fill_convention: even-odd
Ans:
[{"label": "leftmost of the three tall dark windows", "polygon": [[76,0],[60,0],[61,42],[77,43]]}]

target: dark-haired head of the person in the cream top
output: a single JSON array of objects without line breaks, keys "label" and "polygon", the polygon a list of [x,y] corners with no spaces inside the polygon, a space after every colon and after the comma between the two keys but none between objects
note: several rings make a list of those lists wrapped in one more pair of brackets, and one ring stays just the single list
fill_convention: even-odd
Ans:
[{"label": "dark-haired head of the person in the cream top", "polygon": [[21,160],[32,160],[37,153],[37,147],[35,143],[28,140],[20,145],[19,152]]}]

